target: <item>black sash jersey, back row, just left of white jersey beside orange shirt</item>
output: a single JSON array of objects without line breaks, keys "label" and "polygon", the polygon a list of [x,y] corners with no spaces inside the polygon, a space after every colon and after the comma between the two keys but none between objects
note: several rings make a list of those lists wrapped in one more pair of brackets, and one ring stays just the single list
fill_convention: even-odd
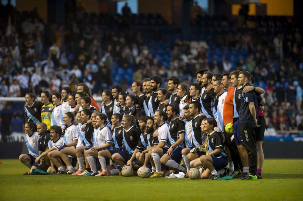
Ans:
[{"label": "black sash jersey, back row, just left of white jersey beside orange shirt", "polygon": [[207,118],[214,117],[213,108],[214,108],[215,96],[216,93],[214,92],[214,89],[211,89],[210,91],[204,90],[204,92],[201,95],[200,103],[202,106],[201,107],[202,113],[204,113]]}]

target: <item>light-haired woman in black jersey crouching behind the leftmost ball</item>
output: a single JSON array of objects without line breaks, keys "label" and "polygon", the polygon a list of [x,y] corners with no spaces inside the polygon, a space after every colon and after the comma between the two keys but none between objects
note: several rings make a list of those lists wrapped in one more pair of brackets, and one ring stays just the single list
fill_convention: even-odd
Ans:
[{"label": "light-haired woman in black jersey crouching behind the leftmost ball", "polygon": [[[135,148],[137,147],[138,141],[140,140],[141,132],[134,126],[135,118],[131,115],[124,115],[122,118],[123,127],[123,142],[125,145],[125,151],[120,151],[112,156],[112,159],[117,165],[121,167],[125,166],[127,161],[132,157]],[[137,159],[133,160],[132,166],[138,169],[142,166],[140,161]],[[121,170],[119,169],[119,175]]]}]

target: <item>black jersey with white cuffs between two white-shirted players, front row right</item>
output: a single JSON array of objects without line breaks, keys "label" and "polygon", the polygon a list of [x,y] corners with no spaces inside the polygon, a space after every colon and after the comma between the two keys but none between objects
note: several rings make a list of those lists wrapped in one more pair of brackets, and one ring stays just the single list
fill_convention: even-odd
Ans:
[{"label": "black jersey with white cuffs between two white-shirted players, front row right", "polygon": [[[178,116],[171,120],[168,129],[168,146],[175,144],[175,142],[180,138],[179,134],[185,133],[185,123],[181,121]],[[184,148],[183,142],[178,145]]]}]

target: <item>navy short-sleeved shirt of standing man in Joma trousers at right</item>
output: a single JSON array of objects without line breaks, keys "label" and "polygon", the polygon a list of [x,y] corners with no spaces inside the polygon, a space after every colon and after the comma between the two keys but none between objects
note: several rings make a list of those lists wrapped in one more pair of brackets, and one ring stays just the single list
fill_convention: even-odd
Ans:
[{"label": "navy short-sleeved shirt of standing man in Joma trousers at right", "polygon": [[[245,86],[250,86],[249,83],[246,83]],[[250,91],[247,93],[244,93],[242,91],[241,94],[241,106],[240,106],[240,111],[239,111],[239,123],[255,123],[254,118],[252,117],[248,103],[253,102],[255,105],[255,110],[256,110],[256,117],[258,115],[258,98],[257,94],[254,91]]]}]

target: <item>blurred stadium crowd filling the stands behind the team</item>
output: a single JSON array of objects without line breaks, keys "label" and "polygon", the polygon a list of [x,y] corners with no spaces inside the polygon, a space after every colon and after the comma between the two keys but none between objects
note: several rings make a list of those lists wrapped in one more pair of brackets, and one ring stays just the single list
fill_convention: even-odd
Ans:
[{"label": "blurred stadium crowd filling the stands behind the team", "polygon": [[[1,5],[0,96],[39,96],[43,90],[60,92],[65,86],[75,91],[78,83],[100,96],[114,84],[131,92],[132,81],[155,75],[165,83],[178,76],[190,85],[200,68],[213,73],[248,70],[265,89],[267,127],[302,130],[303,51],[292,18],[271,23],[263,19],[259,25],[250,19],[241,28],[226,28],[231,25],[226,19],[198,17],[187,40],[161,16],[88,15],[83,8],[68,8],[68,20],[56,28],[45,24],[36,10],[20,13]],[[199,28],[201,24],[205,28]],[[0,109],[12,111],[14,104],[1,102]],[[20,109],[13,113],[14,118],[24,117]],[[3,126],[11,124],[13,115],[8,116],[1,124],[2,135],[10,133]]]}]

